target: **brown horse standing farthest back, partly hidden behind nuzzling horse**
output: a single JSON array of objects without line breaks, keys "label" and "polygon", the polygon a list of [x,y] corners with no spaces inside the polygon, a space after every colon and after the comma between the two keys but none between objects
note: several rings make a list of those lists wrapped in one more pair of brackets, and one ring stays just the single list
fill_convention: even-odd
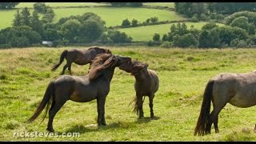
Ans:
[{"label": "brown horse standing farthest back, partly hidden behind nuzzling horse", "polygon": [[66,58],[66,65],[63,67],[62,74],[65,73],[66,68],[70,71],[71,74],[71,64],[72,62],[78,65],[86,65],[87,63],[92,62],[92,60],[96,57],[97,54],[112,54],[110,50],[103,49],[97,46],[91,47],[88,50],[64,50],[61,54],[59,62],[52,67],[52,71],[57,70],[58,66],[60,66]]}]

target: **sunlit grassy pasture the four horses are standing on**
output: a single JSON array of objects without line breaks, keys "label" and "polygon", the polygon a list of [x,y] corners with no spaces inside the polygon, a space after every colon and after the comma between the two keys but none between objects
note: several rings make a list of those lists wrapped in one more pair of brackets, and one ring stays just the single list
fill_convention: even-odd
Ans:
[{"label": "sunlit grassy pasture the four horses are standing on", "polygon": [[[158,47],[106,47],[114,54],[138,58],[158,73],[160,87],[154,98],[150,120],[148,98],[143,105],[146,118],[137,119],[129,102],[134,98],[134,78],[116,68],[106,98],[107,126],[94,126],[96,101],[66,102],[54,118],[59,134],[79,132],[79,138],[14,138],[15,132],[46,132],[48,119],[42,115],[33,123],[26,120],[41,102],[46,86],[58,77],[50,68],[58,62],[63,48],[0,50],[0,141],[255,141],[256,107],[246,109],[227,104],[219,114],[220,133],[198,137],[194,126],[206,82],[222,72],[255,70],[254,49],[160,49]],[[79,47],[85,48],[85,47]],[[75,75],[84,75],[88,66],[73,64]],[[67,71],[66,71],[67,72]]]}]

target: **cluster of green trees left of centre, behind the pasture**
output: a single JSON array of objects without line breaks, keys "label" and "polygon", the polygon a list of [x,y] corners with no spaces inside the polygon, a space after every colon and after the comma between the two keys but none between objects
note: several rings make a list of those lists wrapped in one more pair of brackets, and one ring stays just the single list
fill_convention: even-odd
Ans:
[{"label": "cluster of green trees left of centre, behind the pasture", "polygon": [[[43,14],[39,19],[38,14]],[[122,43],[132,38],[117,30],[107,30],[105,22],[97,14],[86,13],[60,18],[53,22],[54,10],[43,2],[34,3],[34,11],[25,7],[17,10],[12,26],[0,30],[0,47],[40,46],[50,41],[54,46],[70,43]]]}]

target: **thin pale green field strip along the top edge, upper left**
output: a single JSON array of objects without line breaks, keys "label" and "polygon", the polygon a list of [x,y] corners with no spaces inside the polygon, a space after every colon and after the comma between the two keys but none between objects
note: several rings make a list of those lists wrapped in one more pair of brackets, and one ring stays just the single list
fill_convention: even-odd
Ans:
[{"label": "thin pale green field strip along the top edge, upper left", "polygon": [[[20,2],[17,8],[29,7],[33,8],[35,2]],[[106,6],[109,4],[103,2],[45,2],[47,6],[58,7],[58,6]]]}]

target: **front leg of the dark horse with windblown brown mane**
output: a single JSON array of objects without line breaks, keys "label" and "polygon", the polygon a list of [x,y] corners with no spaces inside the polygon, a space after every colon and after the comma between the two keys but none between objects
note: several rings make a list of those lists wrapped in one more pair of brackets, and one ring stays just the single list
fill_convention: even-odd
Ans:
[{"label": "front leg of the dark horse with windblown brown mane", "polygon": [[98,97],[97,98],[97,110],[98,110],[98,126],[106,126],[105,121],[105,102],[106,102],[106,96],[105,97]]}]

